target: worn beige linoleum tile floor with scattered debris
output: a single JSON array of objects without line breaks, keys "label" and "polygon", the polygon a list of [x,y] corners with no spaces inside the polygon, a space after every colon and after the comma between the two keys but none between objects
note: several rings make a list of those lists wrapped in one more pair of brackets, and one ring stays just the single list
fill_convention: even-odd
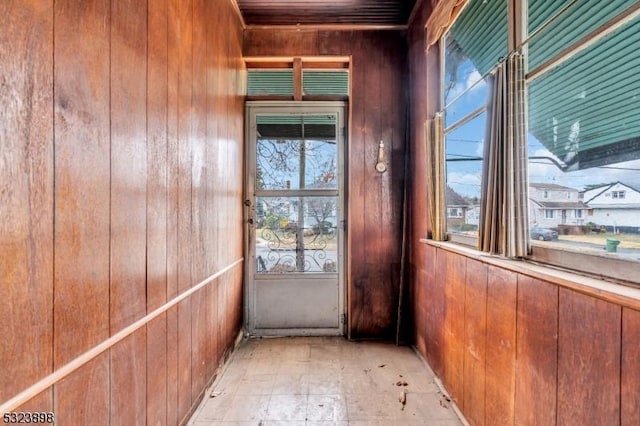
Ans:
[{"label": "worn beige linoleum tile floor with scattered debris", "polygon": [[188,423],[463,425],[410,348],[341,337],[248,339]]}]

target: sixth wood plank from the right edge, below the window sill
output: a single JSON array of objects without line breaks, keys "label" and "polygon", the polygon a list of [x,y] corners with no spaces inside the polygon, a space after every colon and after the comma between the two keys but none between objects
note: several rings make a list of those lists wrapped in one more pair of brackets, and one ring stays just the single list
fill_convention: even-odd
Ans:
[{"label": "sixth wood plank from the right edge, below the window sill", "polygon": [[451,397],[459,405],[462,405],[464,401],[464,306],[467,259],[444,250],[440,254],[446,258],[443,379]]}]

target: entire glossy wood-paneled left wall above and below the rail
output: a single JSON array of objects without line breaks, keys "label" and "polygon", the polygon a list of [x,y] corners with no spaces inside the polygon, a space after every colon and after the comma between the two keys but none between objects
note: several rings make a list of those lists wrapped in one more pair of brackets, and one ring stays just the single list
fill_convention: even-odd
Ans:
[{"label": "entire glossy wood-paneled left wall above and below the rail", "polygon": [[[242,257],[231,2],[0,2],[0,403]],[[238,266],[22,409],[177,424],[241,327]]]}]

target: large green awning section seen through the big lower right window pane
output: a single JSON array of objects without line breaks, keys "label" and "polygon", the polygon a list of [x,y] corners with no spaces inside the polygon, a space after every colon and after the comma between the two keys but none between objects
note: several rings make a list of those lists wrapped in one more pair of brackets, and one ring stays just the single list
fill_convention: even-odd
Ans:
[{"label": "large green awning section seen through the big lower right window pane", "polygon": [[640,20],[529,84],[529,131],[568,170],[640,158]]}]

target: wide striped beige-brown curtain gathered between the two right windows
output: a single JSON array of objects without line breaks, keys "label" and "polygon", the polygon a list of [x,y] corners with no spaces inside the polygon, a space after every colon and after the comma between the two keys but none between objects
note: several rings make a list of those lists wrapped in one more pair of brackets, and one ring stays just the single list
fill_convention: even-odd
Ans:
[{"label": "wide striped beige-brown curtain gathered between the two right windows", "polygon": [[490,77],[478,248],[523,257],[528,247],[524,60],[510,55]]}]

